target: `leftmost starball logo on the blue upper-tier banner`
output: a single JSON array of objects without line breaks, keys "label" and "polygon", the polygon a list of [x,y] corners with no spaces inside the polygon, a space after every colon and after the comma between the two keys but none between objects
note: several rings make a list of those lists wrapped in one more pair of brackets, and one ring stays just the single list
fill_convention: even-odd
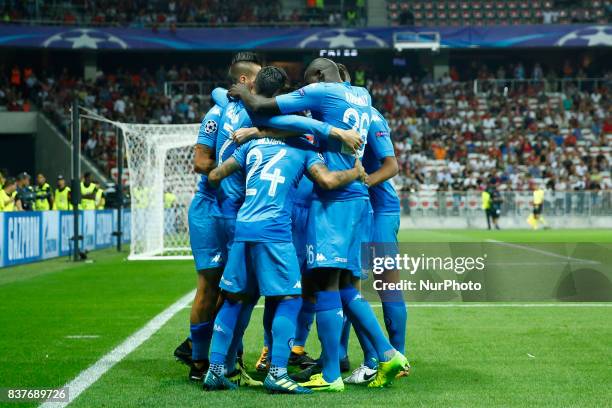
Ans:
[{"label": "leftmost starball logo on the blue upper-tier banner", "polygon": [[121,38],[103,31],[91,28],[77,28],[52,35],[43,43],[43,47],[52,48],[121,48],[126,49],[128,45]]}]

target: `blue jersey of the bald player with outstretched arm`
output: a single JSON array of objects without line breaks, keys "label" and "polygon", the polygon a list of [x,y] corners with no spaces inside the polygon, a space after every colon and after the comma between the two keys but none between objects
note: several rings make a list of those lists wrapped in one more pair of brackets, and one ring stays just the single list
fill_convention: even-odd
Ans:
[{"label": "blue jersey of the bald player with outstretched arm", "polygon": [[[363,156],[372,115],[371,97],[365,88],[348,83],[316,83],[276,97],[282,113],[309,110],[314,119],[340,129],[354,128],[362,137],[363,146],[358,157]],[[332,171],[354,167],[355,157],[342,142],[330,138],[321,144],[325,163]],[[359,180],[337,190],[323,190],[315,185],[320,200],[348,200],[367,198],[368,189]]]}]

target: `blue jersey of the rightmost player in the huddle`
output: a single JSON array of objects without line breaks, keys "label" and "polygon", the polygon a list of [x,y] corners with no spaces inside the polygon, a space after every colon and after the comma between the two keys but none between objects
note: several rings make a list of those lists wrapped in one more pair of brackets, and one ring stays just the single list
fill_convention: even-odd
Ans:
[{"label": "blue jersey of the rightmost player in the huddle", "polygon": [[[380,112],[372,108],[372,123],[363,155],[363,167],[368,174],[372,174],[382,166],[381,160],[393,156],[395,156],[395,150],[391,141],[389,124]],[[400,212],[399,198],[391,180],[369,188],[369,193],[374,212],[379,214]]]}]

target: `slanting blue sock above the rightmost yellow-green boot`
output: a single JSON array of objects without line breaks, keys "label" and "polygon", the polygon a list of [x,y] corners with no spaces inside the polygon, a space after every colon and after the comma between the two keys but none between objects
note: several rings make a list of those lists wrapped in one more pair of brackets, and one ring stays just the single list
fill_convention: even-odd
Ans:
[{"label": "slanting blue sock above the rightmost yellow-green boot", "polygon": [[388,361],[393,357],[394,349],[376,320],[370,304],[354,286],[340,289],[340,297],[344,310],[349,314],[351,323],[358,330],[363,330],[376,350],[378,361]]}]

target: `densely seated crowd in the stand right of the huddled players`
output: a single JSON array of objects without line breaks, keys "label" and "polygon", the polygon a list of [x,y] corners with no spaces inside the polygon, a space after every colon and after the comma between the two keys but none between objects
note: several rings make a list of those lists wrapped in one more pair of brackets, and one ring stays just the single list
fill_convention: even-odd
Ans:
[{"label": "densely seated crowd in the stand right of the huddled players", "polygon": [[535,183],[576,191],[612,188],[610,79],[582,90],[568,82],[554,93],[542,76],[508,94],[503,81],[475,95],[472,83],[451,76],[369,88],[392,127],[402,190],[520,191]]}]

